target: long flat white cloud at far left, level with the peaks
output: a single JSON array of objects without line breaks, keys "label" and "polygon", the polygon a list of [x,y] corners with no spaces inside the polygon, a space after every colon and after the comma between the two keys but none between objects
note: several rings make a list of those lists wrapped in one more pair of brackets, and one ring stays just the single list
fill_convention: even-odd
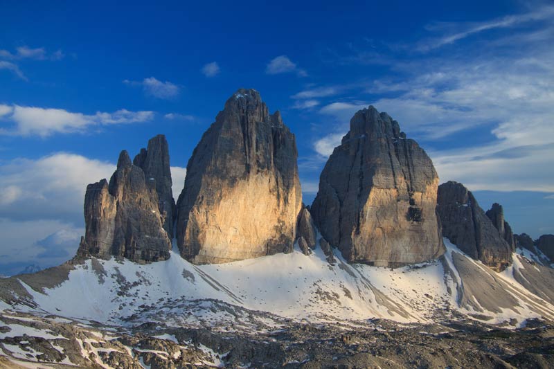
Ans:
[{"label": "long flat white cloud at far left, level with the peaks", "polygon": [[18,136],[51,136],[55,133],[84,132],[98,125],[137,123],[152,120],[153,111],[128,111],[120,109],[113,113],[98,111],[94,115],[72,113],[64,109],[20,107],[0,105],[0,117],[15,124],[13,129],[3,129],[2,134]]}]

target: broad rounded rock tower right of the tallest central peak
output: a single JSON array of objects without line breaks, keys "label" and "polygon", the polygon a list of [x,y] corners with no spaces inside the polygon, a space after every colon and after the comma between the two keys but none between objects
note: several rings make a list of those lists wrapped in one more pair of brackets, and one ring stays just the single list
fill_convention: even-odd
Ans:
[{"label": "broad rounded rock tower right of the tallest central peak", "polygon": [[350,120],[310,209],[349,262],[400,267],[444,253],[436,217],[438,176],[398,123],[369,107]]}]

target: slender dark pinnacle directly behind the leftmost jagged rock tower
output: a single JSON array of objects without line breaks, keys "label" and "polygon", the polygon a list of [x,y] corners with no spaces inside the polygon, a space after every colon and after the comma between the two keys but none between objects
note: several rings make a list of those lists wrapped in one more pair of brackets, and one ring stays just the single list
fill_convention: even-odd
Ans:
[{"label": "slender dark pinnacle directly behind the leftmost jagged rock tower", "polygon": [[158,193],[158,208],[163,216],[163,229],[173,238],[175,222],[175,200],[171,190],[171,170],[169,165],[169,147],[166,136],[159,134],[148,141],[148,148],[141,149],[134,157],[133,164],[140,167],[147,181],[154,181]]}]

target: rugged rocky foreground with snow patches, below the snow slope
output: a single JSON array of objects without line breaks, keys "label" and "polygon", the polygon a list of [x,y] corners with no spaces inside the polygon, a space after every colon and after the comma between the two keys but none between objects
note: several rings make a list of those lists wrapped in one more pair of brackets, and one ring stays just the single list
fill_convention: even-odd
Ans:
[{"label": "rugged rocky foreground with snow patches, below the snow slope", "polygon": [[106,327],[53,315],[0,314],[0,368],[552,368],[554,326],[510,330],[459,318],[403,325],[283,322],[233,327]]}]

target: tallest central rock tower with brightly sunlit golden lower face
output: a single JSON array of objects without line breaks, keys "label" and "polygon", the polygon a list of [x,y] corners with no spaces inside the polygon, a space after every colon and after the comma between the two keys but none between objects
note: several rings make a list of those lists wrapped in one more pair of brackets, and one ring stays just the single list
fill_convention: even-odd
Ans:
[{"label": "tallest central rock tower with brightly sunlit golden lower face", "polygon": [[301,188],[294,134],[260,93],[238,90],[188,161],[177,243],[195,263],[292,251]]}]

